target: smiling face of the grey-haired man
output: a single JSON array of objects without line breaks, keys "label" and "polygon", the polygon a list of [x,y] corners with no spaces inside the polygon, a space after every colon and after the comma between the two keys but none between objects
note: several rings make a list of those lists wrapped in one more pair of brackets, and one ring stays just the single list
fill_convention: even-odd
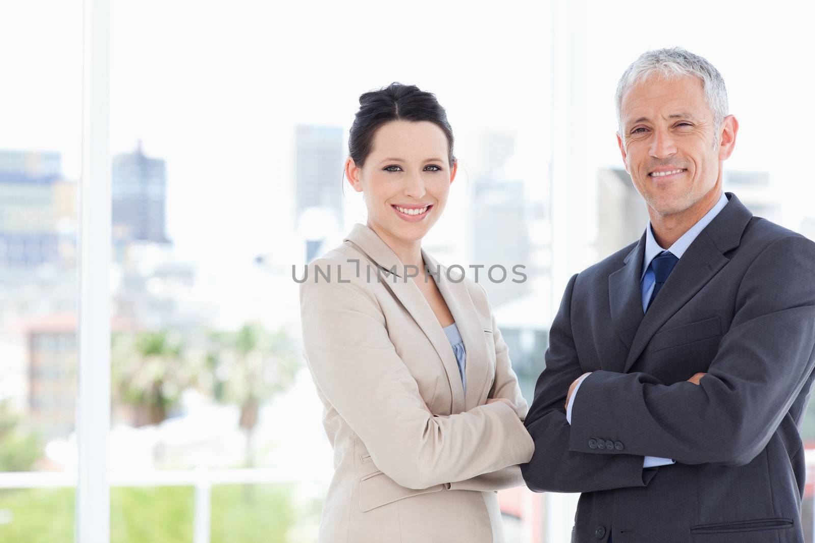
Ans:
[{"label": "smiling face of the grey-haired man", "polygon": [[650,77],[633,86],[623,95],[621,123],[625,169],[652,212],[684,212],[711,190],[718,194],[721,160],[732,151],[738,125],[732,134],[722,130],[735,124],[732,116],[725,126],[714,125],[698,77]]}]

